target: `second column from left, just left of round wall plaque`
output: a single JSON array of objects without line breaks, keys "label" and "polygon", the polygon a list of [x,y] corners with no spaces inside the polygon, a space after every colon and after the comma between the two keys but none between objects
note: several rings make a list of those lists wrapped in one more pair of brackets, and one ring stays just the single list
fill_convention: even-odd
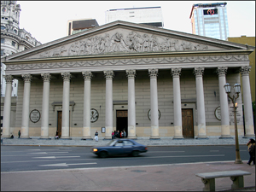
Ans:
[{"label": "second column from left, just left of round wall plaque", "polygon": [[23,93],[23,106],[22,106],[22,122],[20,138],[30,139],[28,136],[29,125],[29,105],[30,105],[30,87],[32,76],[31,74],[22,74],[24,79],[24,93]]}]

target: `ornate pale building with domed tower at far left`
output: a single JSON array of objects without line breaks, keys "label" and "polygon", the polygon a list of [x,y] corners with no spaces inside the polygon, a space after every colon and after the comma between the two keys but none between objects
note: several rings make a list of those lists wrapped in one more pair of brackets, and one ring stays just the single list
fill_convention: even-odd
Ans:
[{"label": "ornate pale building with domed tower at far left", "polygon": [[[20,11],[17,1],[1,1],[1,58],[41,44],[25,29],[20,29]],[[4,73],[5,65],[1,62],[1,96],[5,96]],[[17,96],[17,80],[12,87],[12,96]]]}]

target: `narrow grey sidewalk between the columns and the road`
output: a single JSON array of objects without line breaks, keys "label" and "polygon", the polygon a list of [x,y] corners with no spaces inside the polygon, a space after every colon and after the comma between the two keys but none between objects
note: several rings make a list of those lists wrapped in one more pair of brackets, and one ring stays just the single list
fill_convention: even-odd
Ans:
[{"label": "narrow grey sidewalk between the columns and the road", "polygon": [[[239,137],[239,144],[247,144],[249,138]],[[193,146],[193,145],[235,145],[235,138],[219,139],[218,137],[211,137],[209,139],[172,139],[172,137],[161,137],[160,140],[150,140],[149,137],[137,137],[137,143],[149,146]],[[14,139],[3,138],[3,145],[40,145],[40,146],[100,146],[109,143],[110,140],[104,140],[99,137],[99,142],[95,140],[81,140],[81,137],[72,137],[67,139],[40,139],[39,137],[32,137],[31,139]]]}]

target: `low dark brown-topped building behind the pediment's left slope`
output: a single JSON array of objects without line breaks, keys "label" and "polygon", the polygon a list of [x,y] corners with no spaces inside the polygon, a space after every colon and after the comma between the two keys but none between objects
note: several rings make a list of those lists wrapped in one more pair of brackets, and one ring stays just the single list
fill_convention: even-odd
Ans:
[{"label": "low dark brown-topped building behind the pediment's left slope", "polygon": [[68,20],[67,35],[73,35],[78,32],[84,32],[87,29],[99,26],[95,19]]}]

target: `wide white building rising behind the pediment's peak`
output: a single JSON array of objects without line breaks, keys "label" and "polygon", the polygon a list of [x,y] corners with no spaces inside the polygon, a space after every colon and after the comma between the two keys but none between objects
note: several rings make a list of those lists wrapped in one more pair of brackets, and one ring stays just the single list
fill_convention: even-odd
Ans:
[{"label": "wide white building rising behind the pediment's peak", "polygon": [[164,27],[161,7],[109,9],[106,11],[105,20],[105,23],[115,20],[125,20],[160,28]]}]

